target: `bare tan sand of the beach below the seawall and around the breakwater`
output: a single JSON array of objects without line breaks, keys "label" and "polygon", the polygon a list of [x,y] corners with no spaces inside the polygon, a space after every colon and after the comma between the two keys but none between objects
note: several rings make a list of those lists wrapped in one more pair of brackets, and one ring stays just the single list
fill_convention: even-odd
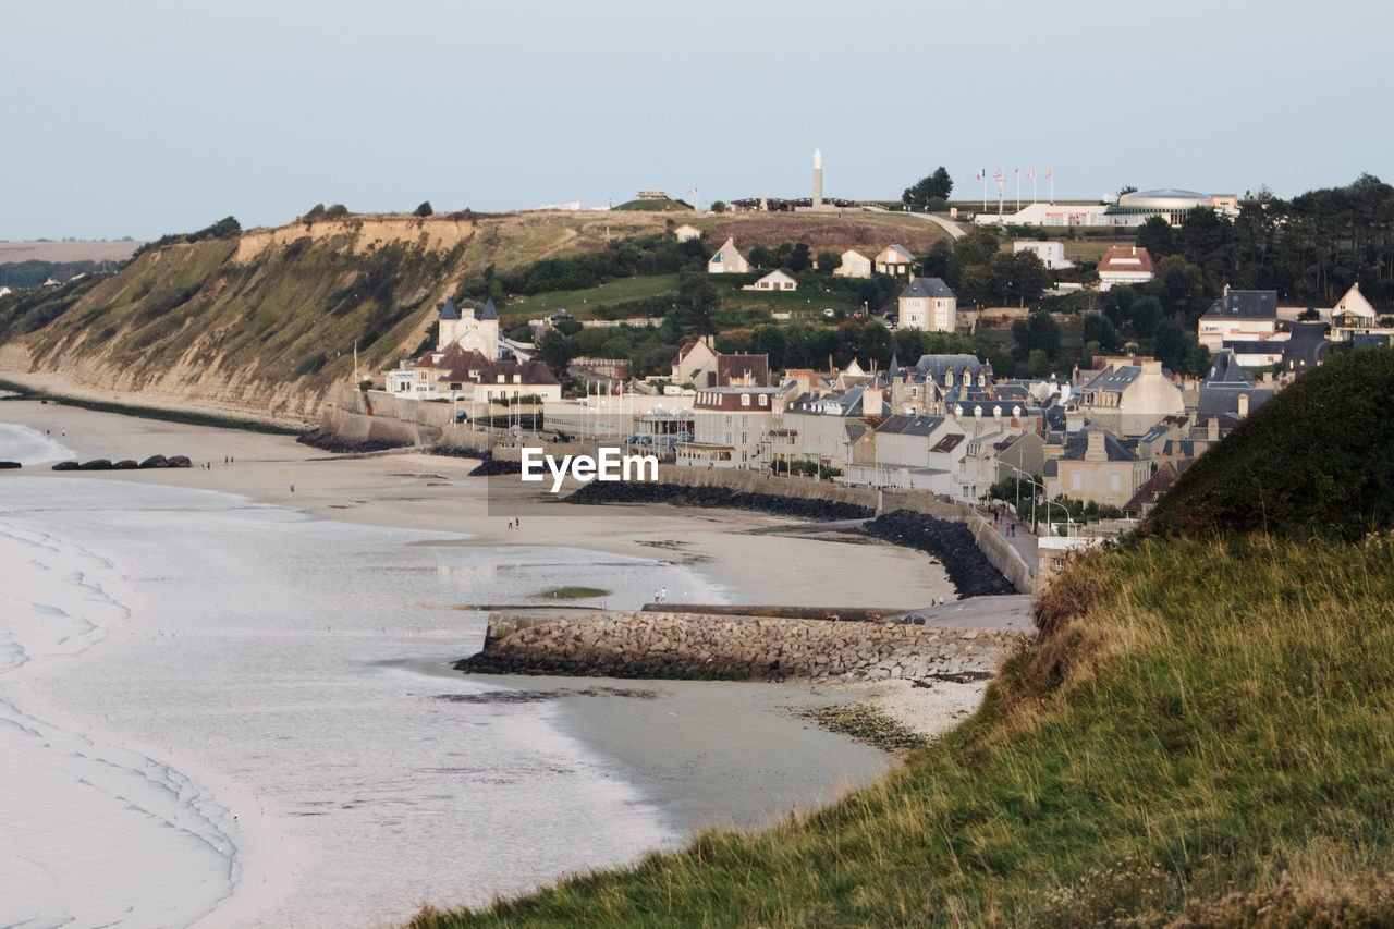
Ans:
[{"label": "bare tan sand of the beach below the seawall and around the breakwater", "polygon": [[[691,591],[669,590],[669,603],[679,603],[690,593],[696,603],[715,597],[715,601],[733,604],[889,611],[920,610],[941,596],[953,600],[942,568],[920,552],[856,536],[848,536],[848,541],[782,536],[778,534],[779,527],[795,523],[767,515],[669,505],[573,506],[531,490],[523,491],[520,484],[505,490],[510,494],[506,506],[500,508],[498,499],[489,506],[489,494],[498,494],[500,487],[507,488],[509,484],[467,477],[477,464],[471,459],[417,452],[336,458],[287,437],[139,420],[31,400],[0,402],[0,423],[45,434],[46,439],[71,449],[71,458],[79,460],[139,460],[160,453],[187,455],[195,462],[191,469],[57,474],[47,464],[26,466],[0,474],[0,499],[7,483],[35,478],[46,478],[43,484],[49,488],[66,483],[77,488],[89,481],[144,485],[142,499],[159,499],[160,488],[216,491],[247,498],[258,506],[269,505],[272,512],[308,518],[311,529],[315,523],[326,529],[333,524],[344,524],[346,529],[353,524],[382,527],[383,531],[395,531],[396,538],[407,540],[407,545],[446,547],[460,554],[477,550],[491,557],[517,551],[521,558],[528,558],[533,552],[562,545],[581,558],[584,552],[591,552],[591,558],[613,555],[623,558],[625,564],[630,559],[671,564],[671,571],[680,569],[675,576],[700,579]],[[208,469],[201,467],[204,462],[209,463]],[[507,515],[502,515],[500,509]],[[513,518],[520,520],[519,529],[509,529]],[[421,538],[411,541],[410,533],[421,533]],[[461,590],[468,591],[468,584]],[[940,615],[945,625],[1016,625],[1029,622],[1023,600],[1005,597],[951,603]],[[413,608],[463,611],[471,605],[477,604],[470,603],[466,593],[456,603],[415,604]],[[986,686],[981,682],[942,683],[923,689],[912,688],[906,681],[769,685],[467,679],[450,670],[447,663],[450,656],[468,654],[478,647],[477,632],[395,632],[390,628],[383,632],[389,639],[397,636],[393,647],[404,649],[404,656],[420,653],[414,642],[434,649],[429,654],[439,657],[414,660],[411,667],[415,668],[413,674],[439,682],[441,699],[464,700],[464,709],[473,702],[482,702],[480,706],[488,710],[487,704],[493,700],[502,700],[499,711],[507,706],[531,707],[527,720],[535,721],[527,725],[546,725],[563,742],[574,739],[601,759],[592,780],[598,778],[595,783],[602,784],[605,778],[618,778],[616,788],[623,787],[643,798],[641,806],[633,809],[651,810],[644,813],[650,817],[657,815],[664,830],[659,834],[668,836],[650,836],[645,831],[648,827],[634,826],[629,834],[640,843],[636,848],[644,844],[648,848],[680,845],[693,830],[703,827],[760,829],[788,816],[790,809],[807,812],[832,802],[848,790],[871,783],[896,763],[885,752],[848,737],[821,732],[814,723],[799,718],[800,710],[868,700],[902,724],[938,734],[962,721],[977,706]],[[403,635],[407,639],[401,639]],[[463,639],[452,642],[452,636],[461,635]],[[216,755],[212,760],[195,756],[192,763],[195,770],[217,766]],[[255,787],[251,790],[255,792]],[[241,784],[233,784],[227,792],[241,795]],[[616,794],[616,798],[625,795]],[[623,803],[625,809],[633,806],[631,801]],[[277,819],[270,810],[258,819],[262,827],[252,844],[259,843],[262,848],[279,845],[282,840],[276,836],[276,824],[290,820]],[[314,843],[312,836],[309,843]],[[622,862],[631,852],[611,854],[620,854]],[[608,866],[618,862],[599,863]],[[296,875],[291,880],[294,886],[287,889],[284,882],[279,887],[268,883],[262,890],[243,886],[229,904],[205,921],[206,925],[279,925],[287,915],[314,905],[301,900],[302,893],[297,897],[307,882],[325,879],[316,877],[312,865],[283,862],[275,856],[270,863],[262,856],[250,865],[251,873],[283,868],[282,873]],[[548,872],[556,865],[533,863],[523,870],[527,868],[541,870],[521,882],[481,875],[478,886],[460,896],[449,896],[439,887],[432,890],[435,884],[422,883],[422,896],[415,902],[482,902],[481,893],[487,900],[489,893],[517,893],[556,876],[555,870]],[[572,868],[567,865],[567,869]],[[290,902],[277,902],[282,898]],[[293,908],[287,914],[276,909],[277,905]],[[408,915],[400,912],[400,918]]]}]

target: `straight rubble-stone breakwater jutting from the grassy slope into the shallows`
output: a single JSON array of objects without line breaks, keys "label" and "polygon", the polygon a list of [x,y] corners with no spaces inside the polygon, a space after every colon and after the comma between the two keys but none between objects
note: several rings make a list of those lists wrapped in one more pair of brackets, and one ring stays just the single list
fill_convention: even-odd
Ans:
[{"label": "straight rubble-stone breakwater jutting from the grassy slope into the shallows", "polygon": [[[506,625],[507,621],[505,619]],[[598,612],[489,639],[456,667],[487,674],[751,681],[987,672],[1025,636],[907,624]]]}]

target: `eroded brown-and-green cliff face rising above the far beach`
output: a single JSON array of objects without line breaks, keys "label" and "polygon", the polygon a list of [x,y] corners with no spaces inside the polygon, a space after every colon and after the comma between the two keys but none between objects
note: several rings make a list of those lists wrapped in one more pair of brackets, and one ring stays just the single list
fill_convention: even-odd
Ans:
[{"label": "eroded brown-and-green cliff face rising above the far beach", "polygon": [[471,273],[655,229],[644,215],[347,216],[167,246],[8,318],[0,307],[0,374],[315,418],[354,379],[355,346],[361,377],[414,356]]}]

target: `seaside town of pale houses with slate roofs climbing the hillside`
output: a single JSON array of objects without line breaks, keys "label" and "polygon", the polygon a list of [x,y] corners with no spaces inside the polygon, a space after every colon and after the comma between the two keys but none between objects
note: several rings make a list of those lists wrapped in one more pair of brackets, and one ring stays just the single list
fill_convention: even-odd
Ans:
[{"label": "seaside town of pale houses with slate roofs climbing the hillside", "polygon": [[[735,206],[849,211],[845,201],[824,201],[821,187],[815,155],[813,198]],[[620,445],[684,467],[923,491],[1001,516],[995,524],[1016,536],[1037,577],[1050,577],[1071,550],[1136,527],[1199,456],[1328,353],[1394,336],[1394,318],[1376,311],[1358,280],[1330,305],[1313,305],[1216,275],[1220,293],[1206,301],[1199,280],[1186,279],[1214,272],[1182,258],[1178,241],[1249,222],[1266,209],[1252,198],[1241,211],[1234,195],[1125,191],[1112,204],[1058,209],[1039,202],[1011,216],[987,212],[967,227],[935,215],[956,239],[920,257],[896,243],[873,254],[743,251],[733,237],[708,243],[696,226],[669,223],[666,239],[689,255],[700,247],[704,264],[683,285],[698,310],[686,319],[697,325],[668,364],[636,372],[629,358],[576,352],[618,329],[671,329],[676,314],[581,319],[580,305],[559,307],[514,317],[500,331],[493,296],[505,294],[495,285],[482,303],[446,299],[435,346],[364,382],[372,388],[364,396],[379,416],[400,400],[445,402],[449,420],[442,410],[431,421],[485,431],[493,449]],[[1066,222],[1065,234],[1039,237],[1047,222]],[[1079,244],[1073,234],[1100,226],[1114,244],[1079,273],[1066,258]],[[1119,237],[1135,243],[1117,244]],[[993,293],[976,282],[979,268],[1001,269],[1005,286]],[[967,305],[945,282],[951,273],[959,292],[974,292]],[[1179,287],[1178,278],[1186,280]],[[746,328],[719,331],[717,314],[700,304],[715,303],[710,282],[725,279],[739,282],[728,290],[736,299],[783,303],[771,303],[754,328],[758,310],[739,321]],[[852,280],[864,285],[860,305],[820,305],[845,297],[834,289]],[[789,300],[810,292],[807,308]],[[1012,296],[1015,307],[994,304]],[[1185,307],[1186,297],[1190,307],[1207,305],[1182,331],[1185,310],[1164,315],[1161,303]],[[1058,370],[1066,358],[1058,318],[1073,318],[1085,340],[1066,370]],[[820,347],[796,353],[796,332],[815,332]],[[424,421],[420,411],[407,417]]]}]

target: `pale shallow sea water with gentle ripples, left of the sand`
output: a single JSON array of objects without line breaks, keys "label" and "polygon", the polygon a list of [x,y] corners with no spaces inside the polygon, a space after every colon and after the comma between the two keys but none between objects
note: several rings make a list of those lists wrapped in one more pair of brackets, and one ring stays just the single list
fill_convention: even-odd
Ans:
[{"label": "pale shallow sea water with gentle ripples, left of the sand", "polygon": [[555,702],[492,699],[527,681],[450,665],[471,605],[715,579],[42,474],[0,471],[0,926],[395,925],[690,840]]}]

